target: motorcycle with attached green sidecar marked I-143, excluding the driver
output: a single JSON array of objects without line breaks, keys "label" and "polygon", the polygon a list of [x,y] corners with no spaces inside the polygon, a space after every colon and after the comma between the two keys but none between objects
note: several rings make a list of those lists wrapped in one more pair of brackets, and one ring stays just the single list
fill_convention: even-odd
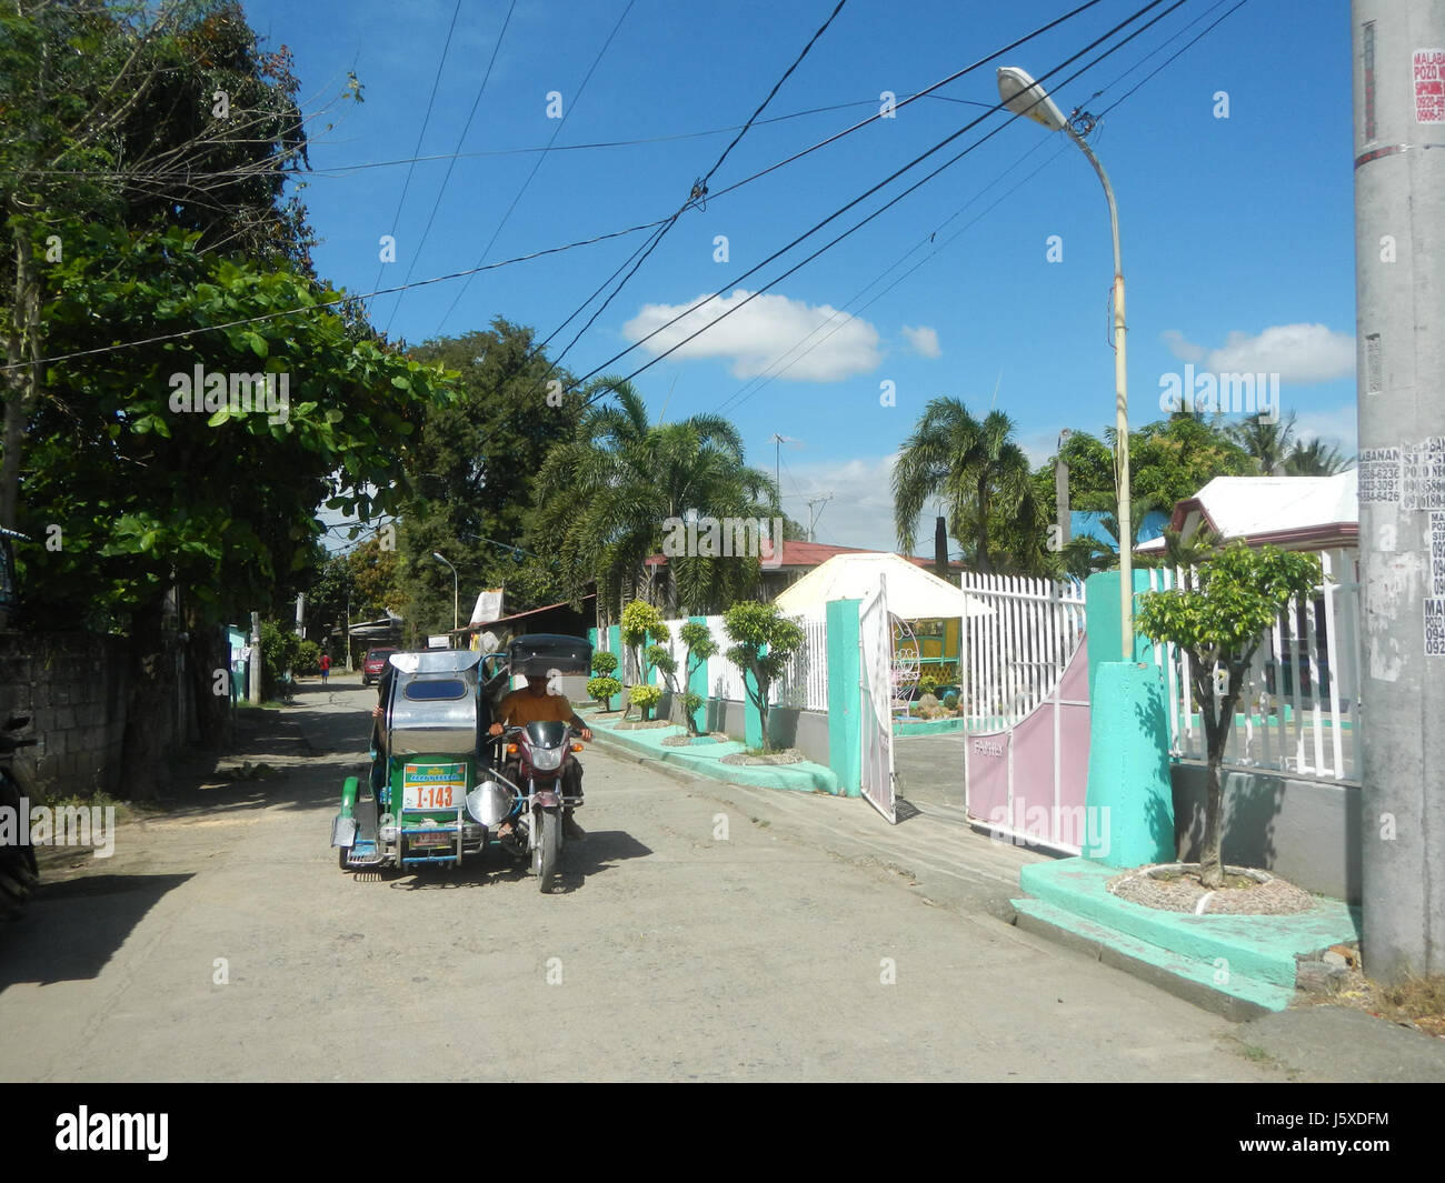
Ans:
[{"label": "motorcycle with attached green sidecar marked I-143, excluding the driver", "polygon": [[582,745],[559,722],[487,732],[513,675],[585,673],[591,650],[577,637],[527,634],[501,653],[389,654],[371,776],[347,777],[331,828],[341,870],[460,867],[497,845],[530,859],[551,891],[564,809],[582,803],[569,792]]}]

